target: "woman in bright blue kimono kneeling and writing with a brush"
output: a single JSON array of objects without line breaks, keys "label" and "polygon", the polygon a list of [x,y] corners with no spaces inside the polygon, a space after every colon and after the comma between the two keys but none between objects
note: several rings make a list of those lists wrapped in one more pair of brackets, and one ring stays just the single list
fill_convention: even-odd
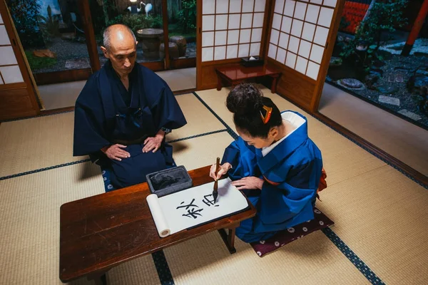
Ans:
[{"label": "woman in bright blue kimono kneeling and writing with a brush", "polygon": [[299,113],[280,113],[258,88],[241,84],[227,101],[240,137],[225,150],[222,165],[210,176],[228,174],[257,209],[241,222],[236,235],[258,242],[276,232],[314,218],[317,188],[322,175],[321,152],[307,137],[307,120]]}]

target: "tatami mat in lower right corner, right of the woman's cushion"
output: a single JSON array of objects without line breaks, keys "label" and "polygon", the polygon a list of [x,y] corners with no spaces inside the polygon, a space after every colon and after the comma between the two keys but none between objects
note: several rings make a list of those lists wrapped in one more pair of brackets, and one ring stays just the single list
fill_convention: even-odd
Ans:
[{"label": "tatami mat in lower right corner, right of the woman's cushion", "polygon": [[385,165],[327,188],[322,200],[335,233],[383,281],[428,284],[426,189]]}]

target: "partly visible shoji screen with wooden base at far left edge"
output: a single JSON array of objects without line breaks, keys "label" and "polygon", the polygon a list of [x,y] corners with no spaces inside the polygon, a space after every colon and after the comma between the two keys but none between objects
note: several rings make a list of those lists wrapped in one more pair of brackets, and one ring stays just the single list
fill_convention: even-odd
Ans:
[{"label": "partly visible shoji screen with wooden base at far left edge", "polygon": [[0,1],[0,120],[39,114],[16,32],[6,4]]}]

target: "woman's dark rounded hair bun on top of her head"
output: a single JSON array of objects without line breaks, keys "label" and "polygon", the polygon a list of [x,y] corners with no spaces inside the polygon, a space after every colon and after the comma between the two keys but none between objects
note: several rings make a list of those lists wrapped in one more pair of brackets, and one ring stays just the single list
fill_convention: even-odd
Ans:
[{"label": "woman's dark rounded hair bun on top of her head", "polygon": [[263,94],[252,84],[241,83],[230,91],[226,99],[226,106],[236,115],[245,115],[258,112],[262,106]]}]

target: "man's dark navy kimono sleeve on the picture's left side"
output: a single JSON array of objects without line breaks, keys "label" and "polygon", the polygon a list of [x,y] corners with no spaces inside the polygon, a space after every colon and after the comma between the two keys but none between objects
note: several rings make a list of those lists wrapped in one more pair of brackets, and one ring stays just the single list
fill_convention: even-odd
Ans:
[{"label": "man's dark navy kimono sleeve on the picture's left side", "polygon": [[103,105],[94,78],[90,78],[74,109],[73,155],[90,155],[110,145],[106,139]]}]

